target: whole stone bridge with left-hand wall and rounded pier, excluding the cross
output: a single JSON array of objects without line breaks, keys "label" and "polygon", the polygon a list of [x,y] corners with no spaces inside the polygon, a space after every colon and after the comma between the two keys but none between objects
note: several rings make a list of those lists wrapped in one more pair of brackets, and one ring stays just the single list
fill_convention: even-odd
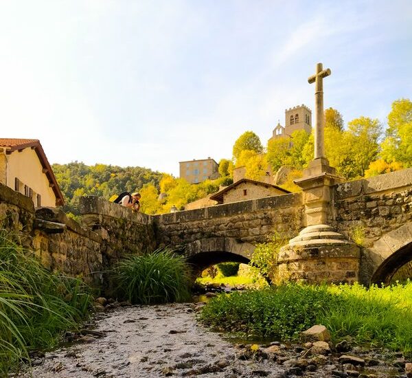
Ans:
[{"label": "whole stone bridge with left-hand wall and rounded pier, excluding the cross", "polygon": [[[246,263],[274,233],[284,240],[297,236],[308,225],[307,202],[304,191],[148,216],[82,197],[80,224],[54,208],[34,209],[30,199],[0,186],[0,226],[25,236],[22,243],[49,269],[102,285],[103,272],[125,254],[163,246],[185,254],[196,272],[229,260]],[[328,203],[328,226],[316,231],[330,240],[327,247],[309,232],[298,236],[305,248],[279,254],[289,279],[389,282],[412,260],[412,168],[333,185]]]}]

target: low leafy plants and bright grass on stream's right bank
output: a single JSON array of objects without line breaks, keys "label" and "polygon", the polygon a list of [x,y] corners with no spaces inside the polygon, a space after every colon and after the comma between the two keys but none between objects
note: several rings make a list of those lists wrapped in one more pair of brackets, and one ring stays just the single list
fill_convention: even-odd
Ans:
[{"label": "low leafy plants and bright grass on stream's right bank", "polygon": [[412,283],[391,287],[304,286],[221,294],[201,313],[212,327],[257,337],[297,340],[324,324],[334,342],[385,346],[412,355]]}]

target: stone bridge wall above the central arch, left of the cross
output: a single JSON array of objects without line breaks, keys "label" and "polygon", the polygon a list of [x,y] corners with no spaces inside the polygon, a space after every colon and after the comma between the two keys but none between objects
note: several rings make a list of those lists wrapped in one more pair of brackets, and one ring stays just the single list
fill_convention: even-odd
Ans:
[{"label": "stone bridge wall above the central arch, left of the cross", "polygon": [[207,238],[262,243],[279,232],[293,237],[302,227],[301,194],[251,199],[155,217],[160,245],[181,246]]}]

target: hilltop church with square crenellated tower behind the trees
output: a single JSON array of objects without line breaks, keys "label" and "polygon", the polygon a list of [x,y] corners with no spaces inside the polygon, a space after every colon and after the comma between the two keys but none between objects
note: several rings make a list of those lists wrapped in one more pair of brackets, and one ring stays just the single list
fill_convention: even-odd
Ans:
[{"label": "hilltop church with square crenellated tower behind the trees", "polygon": [[277,122],[273,129],[273,140],[279,137],[290,137],[293,131],[305,130],[310,134],[312,131],[312,111],[304,104],[285,110],[285,126]]}]

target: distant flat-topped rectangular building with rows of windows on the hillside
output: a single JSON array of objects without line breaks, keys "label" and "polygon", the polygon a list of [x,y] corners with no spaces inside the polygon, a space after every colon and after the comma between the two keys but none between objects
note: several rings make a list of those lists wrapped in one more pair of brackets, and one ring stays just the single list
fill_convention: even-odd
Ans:
[{"label": "distant flat-topped rectangular building with rows of windows on the hillside", "polygon": [[186,179],[190,184],[198,184],[207,179],[217,179],[219,177],[219,165],[210,157],[179,162],[179,168],[179,177]]}]

